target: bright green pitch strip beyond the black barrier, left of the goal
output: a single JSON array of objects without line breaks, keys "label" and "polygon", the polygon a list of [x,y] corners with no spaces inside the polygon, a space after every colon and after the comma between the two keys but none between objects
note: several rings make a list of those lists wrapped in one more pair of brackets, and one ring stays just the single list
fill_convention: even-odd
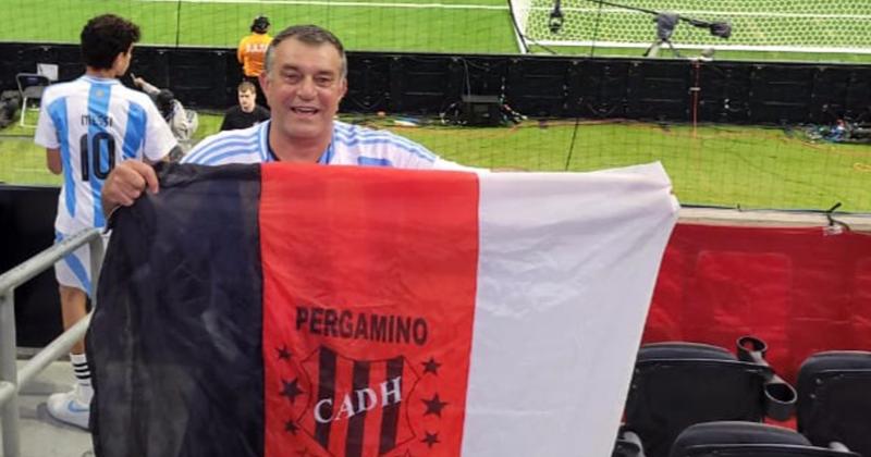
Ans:
[{"label": "bright green pitch strip beyond the black barrier, left of the goal", "polygon": [[314,23],[335,33],[349,50],[517,52],[504,0],[3,0],[3,14],[15,20],[0,29],[0,40],[76,42],[84,23],[106,12],[139,24],[143,42],[152,45],[235,47],[252,20],[265,14],[272,32]]}]

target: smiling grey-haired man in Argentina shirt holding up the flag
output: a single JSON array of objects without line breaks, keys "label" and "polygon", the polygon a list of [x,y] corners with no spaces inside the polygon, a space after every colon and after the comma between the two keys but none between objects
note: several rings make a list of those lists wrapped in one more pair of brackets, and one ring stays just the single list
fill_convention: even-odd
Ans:
[{"label": "smiling grey-haired man in Argentina shirt holding up the flag", "polygon": [[[424,146],[385,131],[335,121],[347,92],[347,59],[339,39],[316,25],[295,25],[269,45],[260,85],[272,119],[250,128],[204,139],[183,163],[321,163],[402,169],[466,169]],[[133,205],[146,189],[158,190],[149,165],[119,166],[103,188],[103,208]]]}]

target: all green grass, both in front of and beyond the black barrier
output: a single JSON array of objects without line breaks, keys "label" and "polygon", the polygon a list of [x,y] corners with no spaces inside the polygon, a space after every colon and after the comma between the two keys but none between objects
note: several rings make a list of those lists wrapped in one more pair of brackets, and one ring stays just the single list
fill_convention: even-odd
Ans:
[{"label": "all green grass, both in front of and beyond the black barrier", "polygon": [[[563,3],[571,1],[581,0],[564,0]],[[725,4],[724,1],[727,0],[627,0],[625,3],[702,11],[709,3]],[[864,28],[838,32],[859,37],[871,29],[871,24],[862,23],[863,17],[871,16],[871,2],[862,1],[827,0],[823,7],[819,5],[823,4],[821,2],[793,0],[747,0],[735,4],[743,14],[751,14],[748,9],[755,4],[768,10],[774,3],[788,5],[792,10],[782,9],[783,14],[803,17],[806,22],[801,27],[813,30],[823,41],[831,41],[834,38],[821,32],[832,28],[825,12],[844,15],[856,12],[855,5],[864,4],[867,11],[858,14],[859,26],[864,25]],[[808,5],[817,7],[812,13],[802,15],[800,11],[805,10],[801,9],[810,8]],[[144,45],[232,48],[247,33],[252,18],[266,14],[274,28],[298,23],[326,26],[351,50],[518,52],[505,0],[3,0],[0,15],[5,21],[4,27],[0,27],[0,40],[74,44],[83,24],[106,12],[137,22],[143,28]],[[574,13],[566,12],[571,22],[568,14]],[[601,25],[605,27],[599,30],[603,37],[619,32],[618,22],[602,21]],[[678,33],[688,32],[684,25],[680,27],[684,28]],[[735,36],[740,38],[743,33],[746,30],[736,29]],[[774,32],[763,27],[753,30],[757,35],[766,33]],[[675,35],[675,40],[680,37]],[[560,48],[557,51],[590,52],[585,48]],[[635,55],[637,52],[637,49],[594,50],[596,55]],[[871,62],[869,54],[719,51],[716,55],[717,59]],[[708,125],[694,129],[688,125],[582,120],[577,124],[574,120],[527,120],[517,126],[493,128],[424,122],[420,127],[409,128],[396,126],[389,115],[351,121],[396,129],[443,157],[470,165],[586,171],[659,160],[684,203],[821,210],[842,202],[842,210],[871,212],[871,147],[811,140],[802,128],[794,132]],[[219,123],[217,115],[201,115],[198,135],[216,132]],[[27,128],[0,131],[0,181],[59,183],[57,176],[45,171],[45,153],[33,145],[32,136],[33,129]]]}]

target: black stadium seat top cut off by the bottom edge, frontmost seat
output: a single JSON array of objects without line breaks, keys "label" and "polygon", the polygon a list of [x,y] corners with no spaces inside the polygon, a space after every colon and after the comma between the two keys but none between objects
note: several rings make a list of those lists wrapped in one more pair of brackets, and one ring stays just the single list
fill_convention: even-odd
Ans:
[{"label": "black stadium seat top cut off by the bottom edge, frontmost seat", "polygon": [[793,430],[757,422],[698,423],[684,430],[668,457],[860,457],[813,446]]}]

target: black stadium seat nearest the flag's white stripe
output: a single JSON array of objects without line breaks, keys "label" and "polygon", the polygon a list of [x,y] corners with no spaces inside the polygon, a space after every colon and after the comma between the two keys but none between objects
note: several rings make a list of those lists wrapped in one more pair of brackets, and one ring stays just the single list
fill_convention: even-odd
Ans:
[{"label": "black stadium seat nearest the flag's white stripe", "polygon": [[[665,457],[675,437],[695,423],[761,421],[773,378],[764,362],[738,360],[722,347],[645,345],[638,351],[626,402],[625,429],[640,436],[647,457]],[[787,385],[784,392],[784,402],[794,403],[792,387]]]}]

